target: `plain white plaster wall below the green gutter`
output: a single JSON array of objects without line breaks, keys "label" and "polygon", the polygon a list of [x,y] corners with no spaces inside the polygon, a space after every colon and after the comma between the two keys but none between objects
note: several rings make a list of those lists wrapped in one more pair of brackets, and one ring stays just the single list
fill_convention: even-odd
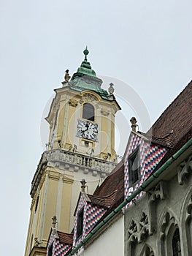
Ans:
[{"label": "plain white plaster wall below the green gutter", "polygon": [[104,233],[84,249],[81,256],[124,256],[124,217],[113,223]]}]

